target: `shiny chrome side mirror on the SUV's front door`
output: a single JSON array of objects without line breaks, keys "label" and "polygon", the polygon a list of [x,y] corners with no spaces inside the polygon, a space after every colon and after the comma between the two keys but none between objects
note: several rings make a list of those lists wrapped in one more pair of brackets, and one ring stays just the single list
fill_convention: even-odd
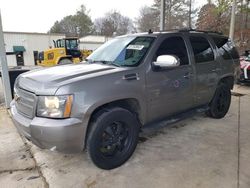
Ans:
[{"label": "shiny chrome side mirror on the SUV's front door", "polygon": [[174,68],[180,66],[180,59],[174,55],[160,55],[153,65],[160,69]]}]

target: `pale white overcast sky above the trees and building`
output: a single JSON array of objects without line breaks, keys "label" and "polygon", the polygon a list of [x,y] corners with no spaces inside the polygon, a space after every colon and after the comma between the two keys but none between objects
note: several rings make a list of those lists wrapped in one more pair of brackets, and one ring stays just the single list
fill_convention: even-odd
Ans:
[{"label": "pale white overcast sky above the trees and building", "polygon": [[[195,0],[200,7],[206,0]],[[84,4],[94,20],[109,10],[118,10],[132,19],[153,0],[1,0],[4,31],[47,32],[56,20],[74,14]]]}]

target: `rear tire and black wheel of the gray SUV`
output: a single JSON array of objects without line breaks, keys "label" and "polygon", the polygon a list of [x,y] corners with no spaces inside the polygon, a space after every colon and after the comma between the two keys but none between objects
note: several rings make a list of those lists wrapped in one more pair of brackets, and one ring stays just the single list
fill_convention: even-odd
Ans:
[{"label": "rear tire and black wheel of the gray SUV", "polygon": [[215,119],[223,118],[227,114],[230,104],[231,90],[225,83],[220,83],[209,104],[209,110],[206,114]]}]

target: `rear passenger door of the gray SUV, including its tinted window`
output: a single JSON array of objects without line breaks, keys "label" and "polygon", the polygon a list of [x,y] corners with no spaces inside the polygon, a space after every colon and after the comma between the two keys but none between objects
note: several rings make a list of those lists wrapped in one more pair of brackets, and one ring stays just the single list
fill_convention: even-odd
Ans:
[{"label": "rear passenger door of the gray SUV, including its tinted window", "polygon": [[195,63],[195,104],[207,104],[212,99],[220,74],[220,62],[216,60],[214,48],[206,35],[190,34],[192,59]]}]

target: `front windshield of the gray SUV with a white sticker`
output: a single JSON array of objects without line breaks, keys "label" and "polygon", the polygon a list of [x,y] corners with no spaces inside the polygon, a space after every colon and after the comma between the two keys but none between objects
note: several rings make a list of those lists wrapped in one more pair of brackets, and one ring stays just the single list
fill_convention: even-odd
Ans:
[{"label": "front windshield of the gray SUV with a white sticker", "polygon": [[153,37],[127,36],[110,40],[95,50],[89,57],[91,62],[111,62],[118,66],[136,66],[150,48]]}]

